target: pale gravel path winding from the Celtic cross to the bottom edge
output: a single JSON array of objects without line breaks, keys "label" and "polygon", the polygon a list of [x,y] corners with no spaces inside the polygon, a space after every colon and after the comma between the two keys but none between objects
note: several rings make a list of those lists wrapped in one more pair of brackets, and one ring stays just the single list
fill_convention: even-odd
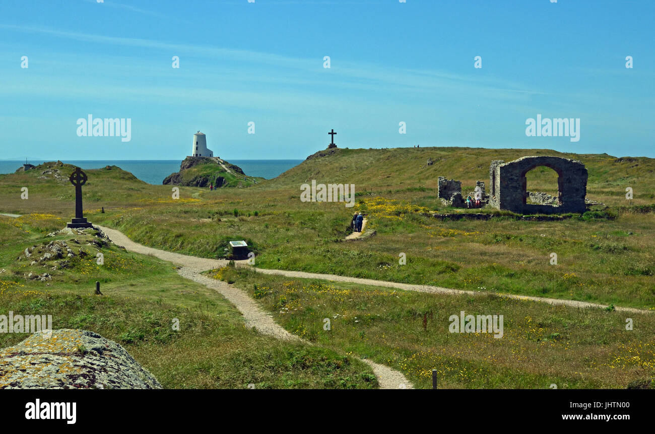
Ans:
[{"label": "pale gravel path winding from the Celtic cross to the bottom edge", "polygon": [[[265,312],[259,304],[255,303],[248,293],[240,288],[236,288],[233,285],[228,285],[223,281],[216,279],[211,279],[205,275],[200,274],[202,271],[208,269],[214,269],[219,267],[224,267],[227,265],[225,260],[215,260],[207,258],[197,258],[196,256],[187,256],[184,254],[167,252],[166,250],[160,250],[159,248],[146,247],[140,245],[139,243],[134,243],[126,237],[121,231],[116,229],[110,229],[109,227],[98,226],[100,229],[113,241],[115,244],[120,245],[130,252],[136,252],[141,254],[150,254],[156,256],[161,260],[172,262],[181,266],[178,269],[179,275],[190,279],[197,283],[207,286],[217,290],[229,302],[234,304],[236,308],[242,313],[244,319],[246,320],[246,326],[255,327],[259,332],[267,334],[269,336],[274,336],[278,339],[293,340],[297,342],[303,342],[304,344],[312,345],[311,342],[302,340],[298,336],[291,334],[284,327],[278,325],[272,318],[270,313]],[[240,261],[242,266],[248,264],[248,261]],[[405,378],[402,372],[398,372],[388,366],[380,365],[368,359],[360,359],[367,365],[371,366],[377,380],[380,384],[381,389],[412,389],[411,383]]]}]

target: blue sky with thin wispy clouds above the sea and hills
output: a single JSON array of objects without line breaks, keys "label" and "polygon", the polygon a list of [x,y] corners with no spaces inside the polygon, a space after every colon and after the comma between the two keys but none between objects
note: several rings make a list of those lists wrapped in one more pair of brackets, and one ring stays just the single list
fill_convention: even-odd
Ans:
[{"label": "blue sky with thin wispy clouds above the sea and hills", "polygon": [[[0,159],[182,159],[196,130],[224,159],[303,159],[331,128],[343,148],[655,157],[654,12],[651,0],[3,0]],[[77,136],[89,114],[132,119],[132,139]],[[527,137],[537,114],[580,118],[580,140]]]}]

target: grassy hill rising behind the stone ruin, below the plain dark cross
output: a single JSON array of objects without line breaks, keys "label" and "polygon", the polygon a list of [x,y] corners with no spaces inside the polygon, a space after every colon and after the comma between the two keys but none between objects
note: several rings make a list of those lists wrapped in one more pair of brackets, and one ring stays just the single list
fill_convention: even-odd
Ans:
[{"label": "grassy hill rising behind the stone ruin, below the plain dark cross", "polygon": [[[355,184],[356,191],[388,191],[406,187],[437,188],[438,176],[460,180],[463,191],[476,181],[489,184],[492,160],[513,161],[527,155],[553,155],[584,163],[589,179],[588,199],[607,205],[627,205],[626,187],[632,187],[635,205],[655,201],[655,159],[612,157],[603,154],[561,153],[550,149],[392,148],[326,149],[267,182],[273,189],[296,189],[303,182]],[[427,165],[428,159],[432,165]],[[557,175],[550,168],[528,173],[528,189],[557,190]],[[487,186],[487,191],[489,187]]]}]

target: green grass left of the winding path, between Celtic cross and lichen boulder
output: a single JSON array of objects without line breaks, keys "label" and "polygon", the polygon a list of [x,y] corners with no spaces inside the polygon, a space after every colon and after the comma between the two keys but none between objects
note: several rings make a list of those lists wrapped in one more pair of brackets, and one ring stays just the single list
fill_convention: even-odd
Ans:
[{"label": "green grass left of the winding path, between Celtic cross and lichen boulder", "polygon": [[[123,345],[167,388],[377,387],[369,366],[357,359],[246,329],[223,296],[182,279],[171,264],[151,256],[111,245],[100,248],[103,266],[92,255],[76,257],[68,268],[48,267],[51,281],[26,281],[24,273],[39,270],[16,262],[24,248],[52,239],[84,239],[45,237],[60,226],[47,216],[0,218],[0,312],[52,315],[53,328],[97,332]],[[101,281],[103,296],[92,295],[95,281]],[[173,330],[174,319],[179,331]],[[2,333],[0,347],[26,337]]]}]

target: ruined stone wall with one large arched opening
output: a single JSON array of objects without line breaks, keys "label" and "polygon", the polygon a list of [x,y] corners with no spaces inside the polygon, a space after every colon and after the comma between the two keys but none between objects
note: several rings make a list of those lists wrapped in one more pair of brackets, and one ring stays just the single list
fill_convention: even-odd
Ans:
[{"label": "ruined stone wall with one large arched opening", "polygon": [[[525,174],[535,167],[546,166],[557,172],[557,198],[553,205],[527,203]],[[489,205],[519,214],[555,214],[584,212],[587,195],[587,169],[581,161],[562,157],[521,157],[505,163],[494,160],[489,167]]]}]

